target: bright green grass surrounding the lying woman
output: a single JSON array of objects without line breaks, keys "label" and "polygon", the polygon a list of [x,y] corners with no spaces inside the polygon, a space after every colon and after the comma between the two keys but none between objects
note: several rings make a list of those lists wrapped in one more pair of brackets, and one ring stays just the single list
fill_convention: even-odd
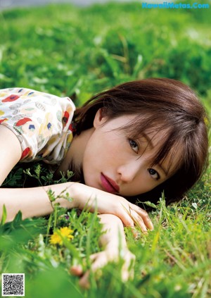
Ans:
[{"label": "bright green grass surrounding the lying woman", "polygon": [[[0,14],[0,88],[30,87],[68,95],[77,105],[92,94],[127,80],[172,77],[191,85],[211,115],[210,9],[151,10],[136,4],[90,8],[46,6]],[[28,165],[25,166],[25,169]],[[34,171],[35,167],[35,171]],[[46,169],[32,165],[38,184],[51,182]],[[42,178],[43,176],[44,178]],[[91,276],[82,291],[69,273],[72,263],[89,268],[101,235],[96,214],[59,206],[49,218],[0,226],[0,272],[25,272],[27,298],[37,297],[209,297],[211,294],[211,168],[183,201],[151,213],[155,230],[128,245],[136,254],[134,280],[120,281],[121,262],[103,277]],[[15,168],[6,185],[34,183]],[[66,178],[63,178],[65,181]],[[70,225],[74,239],[49,243],[53,228]],[[83,261],[85,260],[85,262]]]}]

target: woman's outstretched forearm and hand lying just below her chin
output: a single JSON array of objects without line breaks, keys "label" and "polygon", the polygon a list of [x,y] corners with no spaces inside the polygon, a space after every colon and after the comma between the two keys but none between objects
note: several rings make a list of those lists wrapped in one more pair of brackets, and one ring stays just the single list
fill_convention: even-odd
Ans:
[{"label": "woman's outstretched forearm and hand lying just below her chin", "polygon": [[[51,203],[48,196],[49,190],[58,197],[55,202],[60,203],[62,207],[81,210],[85,208],[91,212],[97,209],[98,213],[110,213],[119,217],[126,226],[138,225],[143,232],[146,232],[147,228],[153,229],[153,223],[148,214],[139,206],[123,197],[77,182],[34,188],[0,188],[0,218],[4,204],[8,214],[6,221],[12,221],[19,210],[23,213],[23,218],[45,216],[51,213],[55,202]],[[63,199],[64,194],[68,194],[72,201]]]}]

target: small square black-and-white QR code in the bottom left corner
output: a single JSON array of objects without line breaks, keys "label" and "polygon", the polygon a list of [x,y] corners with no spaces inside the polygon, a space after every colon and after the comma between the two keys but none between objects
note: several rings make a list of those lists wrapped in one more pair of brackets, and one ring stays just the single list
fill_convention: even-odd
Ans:
[{"label": "small square black-and-white QR code in the bottom left corner", "polygon": [[1,296],[25,296],[25,274],[3,273]]}]

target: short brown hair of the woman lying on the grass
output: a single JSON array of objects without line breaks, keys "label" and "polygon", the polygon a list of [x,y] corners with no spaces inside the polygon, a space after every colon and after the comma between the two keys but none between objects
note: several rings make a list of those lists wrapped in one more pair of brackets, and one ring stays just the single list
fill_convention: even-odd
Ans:
[{"label": "short brown hair of the woman lying on the grass", "polygon": [[129,130],[134,138],[146,130],[166,132],[153,165],[162,163],[170,152],[174,159],[175,151],[181,150],[181,160],[174,175],[150,192],[141,194],[139,199],[157,202],[164,190],[167,204],[178,201],[203,174],[208,156],[207,116],[188,86],[177,80],[151,78],[126,82],[96,94],[75,112],[78,134],[93,126],[99,108],[108,119],[136,115],[129,127],[122,128]]}]

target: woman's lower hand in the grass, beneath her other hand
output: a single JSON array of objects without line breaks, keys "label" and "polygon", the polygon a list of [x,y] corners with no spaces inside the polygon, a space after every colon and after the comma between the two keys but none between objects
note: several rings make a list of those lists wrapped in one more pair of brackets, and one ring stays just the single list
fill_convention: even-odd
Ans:
[{"label": "woman's lower hand in the grass, beneath her other hand", "polygon": [[[117,216],[112,214],[101,214],[101,223],[103,224],[103,235],[100,239],[100,244],[103,247],[102,252],[92,254],[90,256],[92,264],[91,271],[96,272],[103,268],[109,261],[124,260],[122,265],[122,280],[128,280],[134,275],[135,256],[127,248],[127,242],[124,235],[124,227],[122,221]],[[80,277],[79,285],[89,287],[89,273],[83,272],[82,266],[72,266],[70,271],[73,275]]]}]

